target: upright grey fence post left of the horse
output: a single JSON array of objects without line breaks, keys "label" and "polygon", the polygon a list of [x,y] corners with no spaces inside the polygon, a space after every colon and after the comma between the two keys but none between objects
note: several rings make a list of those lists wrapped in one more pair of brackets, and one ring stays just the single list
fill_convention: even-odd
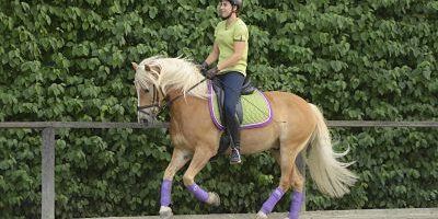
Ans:
[{"label": "upright grey fence post left of the horse", "polygon": [[42,219],[55,219],[55,130],[43,129]]}]

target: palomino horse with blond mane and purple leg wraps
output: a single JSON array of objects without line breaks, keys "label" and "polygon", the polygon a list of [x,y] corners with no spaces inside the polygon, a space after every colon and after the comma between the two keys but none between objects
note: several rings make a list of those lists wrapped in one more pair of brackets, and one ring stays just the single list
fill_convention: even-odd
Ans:
[{"label": "palomino horse with blond mane and purple leg wraps", "polygon": [[[151,57],[139,65],[132,62],[132,67],[139,122],[152,122],[165,101],[170,103],[170,135],[174,149],[161,186],[160,216],[170,218],[173,215],[169,207],[172,180],[188,161],[189,166],[183,175],[187,191],[198,200],[218,206],[218,194],[206,192],[195,183],[196,174],[217,153],[221,135],[210,118],[204,76],[195,64],[182,58]],[[281,176],[279,186],[263,204],[256,218],[267,218],[290,187],[293,193],[288,218],[298,218],[304,180],[295,160],[307,145],[310,145],[307,163],[319,189],[334,197],[348,193],[357,177],[347,170],[349,163],[336,160],[348,151],[333,151],[327,126],[318,107],[291,93],[274,91],[265,92],[265,95],[270,102],[273,122],[261,128],[243,129],[241,152],[269,150],[280,165]]]}]

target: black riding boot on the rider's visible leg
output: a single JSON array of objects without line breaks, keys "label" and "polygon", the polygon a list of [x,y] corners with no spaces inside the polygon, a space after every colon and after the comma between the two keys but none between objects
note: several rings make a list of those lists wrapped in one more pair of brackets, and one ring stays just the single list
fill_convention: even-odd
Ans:
[{"label": "black riding boot on the rider's visible leg", "polygon": [[240,158],[240,124],[237,116],[232,116],[231,119],[227,119],[228,135],[231,137],[231,155],[230,163],[238,164],[242,160]]}]

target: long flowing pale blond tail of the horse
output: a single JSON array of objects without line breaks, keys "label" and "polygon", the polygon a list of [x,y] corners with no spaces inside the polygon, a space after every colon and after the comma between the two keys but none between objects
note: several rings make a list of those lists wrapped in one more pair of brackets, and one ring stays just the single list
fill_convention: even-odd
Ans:
[{"label": "long flowing pale blond tail of the horse", "polygon": [[310,106],[316,117],[316,127],[310,141],[307,159],[310,175],[322,193],[332,197],[342,197],[349,193],[348,187],[357,180],[357,176],[347,169],[354,162],[343,163],[336,160],[346,155],[349,148],[342,153],[333,151],[324,116],[315,105],[310,104]]}]

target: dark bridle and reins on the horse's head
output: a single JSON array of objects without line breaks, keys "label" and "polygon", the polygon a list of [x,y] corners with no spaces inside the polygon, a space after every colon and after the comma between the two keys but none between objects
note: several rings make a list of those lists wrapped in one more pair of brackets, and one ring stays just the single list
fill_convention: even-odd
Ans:
[{"label": "dark bridle and reins on the horse's head", "polygon": [[[188,89],[186,93],[191,92],[193,89],[198,87],[205,80],[207,80],[207,78],[205,78],[205,79],[200,80],[199,82],[197,82],[195,85],[193,85],[191,89]],[[160,115],[164,111],[164,108],[166,108],[170,105],[172,105],[180,97],[184,96],[184,94],[180,94],[180,95],[175,96],[174,99],[168,101],[163,106],[161,106],[161,101],[162,100],[160,100],[160,93],[161,93],[162,96],[164,96],[164,92],[161,89],[157,88],[155,84],[152,84],[152,85],[153,85],[153,88],[152,88],[152,92],[153,92],[152,93],[152,96],[153,96],[152,97],[152,103],[149,104],[149,105],[141,105],[141,106],[139,105],[139,106],[137,106],[137,112],[146,114],[146,115],[148,115],[149,117],[151,117],[153,119],[157,119],[157,116]],[[149,89],[145,89],[145,92],[149,93]],[[165,97],[163,97],[163,100],[164,99]],[[152,107],[155,107],[157,110],[155,111],[151,111],[151,112],[145,111],[147,108],[152,108]]]}]

